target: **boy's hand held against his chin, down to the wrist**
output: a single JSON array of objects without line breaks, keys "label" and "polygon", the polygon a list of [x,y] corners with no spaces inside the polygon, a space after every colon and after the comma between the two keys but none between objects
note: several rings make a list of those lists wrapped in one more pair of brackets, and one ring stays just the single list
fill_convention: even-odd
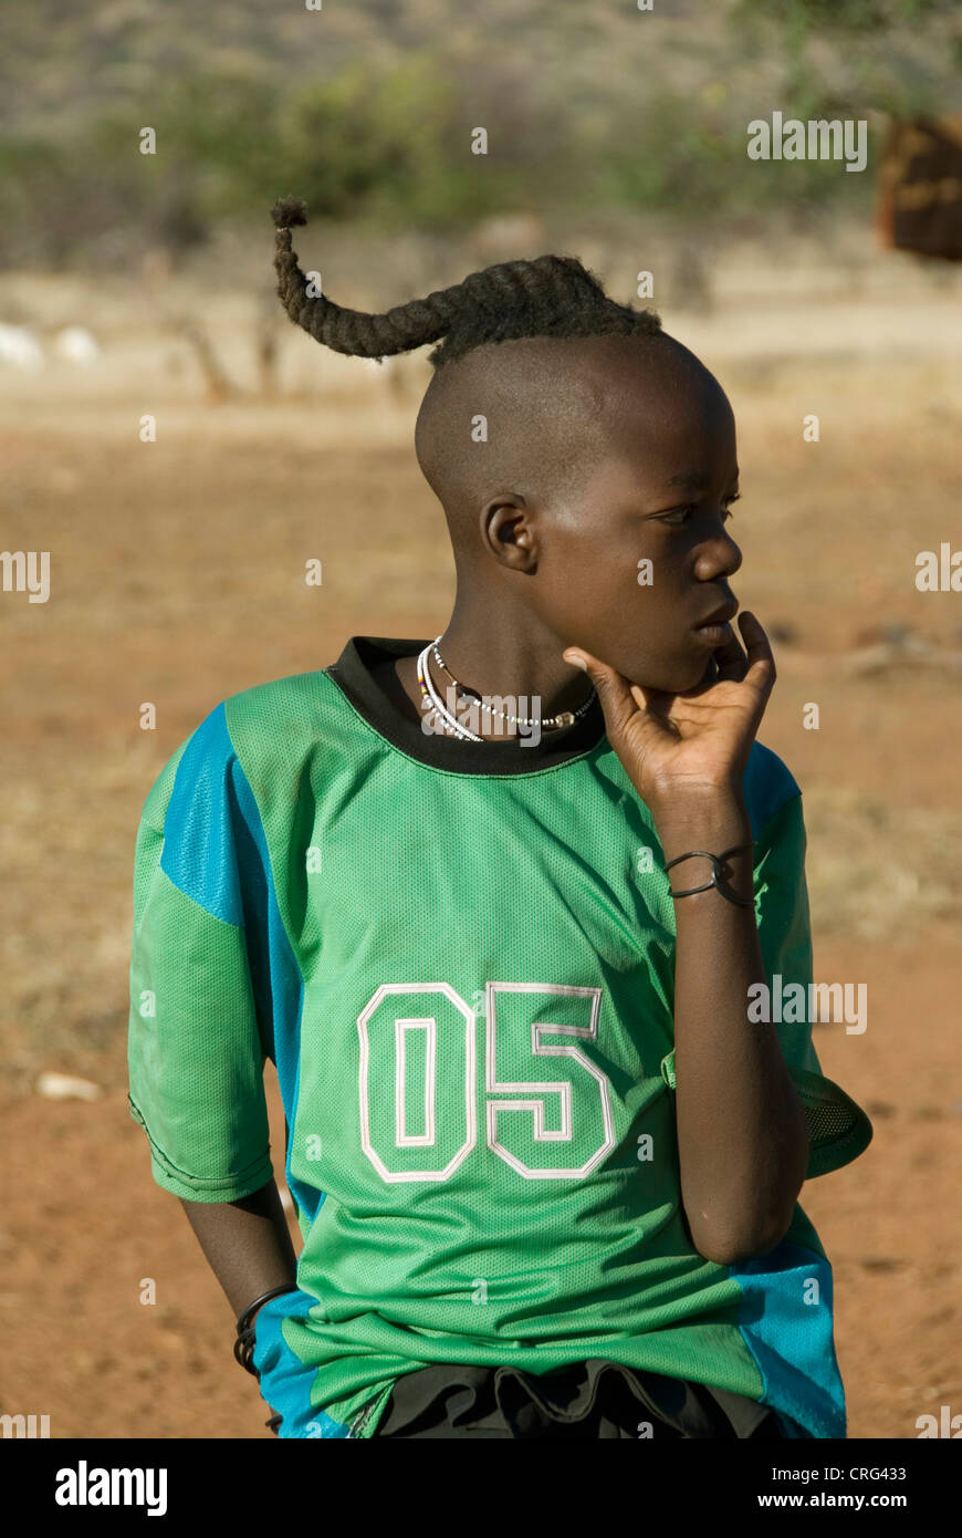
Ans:
[{"label": "boy's hand held against his chin, down to the wrist", "polygon": [[761,623],[745,611],[735,634],[713,652],[718,677],[684,694],[642,689],[579,646],[598,689],[609,741],[653,815],[692,795],[741,795],[751,743],[775,684],[775,658]]}]

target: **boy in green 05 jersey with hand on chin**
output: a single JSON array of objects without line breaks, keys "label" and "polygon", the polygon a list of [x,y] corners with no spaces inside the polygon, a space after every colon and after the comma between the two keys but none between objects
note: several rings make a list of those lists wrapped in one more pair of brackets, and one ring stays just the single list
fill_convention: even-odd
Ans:
[{"label": "boy in green 05 jersey with hand on chin", "polygon": [[269,1424],[844,1436],[798,1193],[871,1127],[804,1010],[748,1003],[811,947],[771,651],[730,624],[731,408],[573,260],[361,315],[275,223],[318,340],[444,338],[415,446],[458,584],[433,643],[224,701],[144,807],[131,1109]]}]

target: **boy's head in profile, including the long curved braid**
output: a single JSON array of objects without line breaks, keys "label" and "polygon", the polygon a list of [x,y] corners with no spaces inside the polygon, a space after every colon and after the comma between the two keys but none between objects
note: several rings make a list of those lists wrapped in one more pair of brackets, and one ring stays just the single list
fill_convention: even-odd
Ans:
[{"label": "boy's head in profile, including the long curved braid", "polygon": [[718,644],[696,626],[731,617],[741,566],[735,418],[704,365],[570,258],[489,268],[387,315],[307,298],[289,229],[303,206],[274,217],[278,292],[318,340],[380,357],[444,337],[415,449],[458,601],[536,617],[559,651],[650,689],[696,687]]}]

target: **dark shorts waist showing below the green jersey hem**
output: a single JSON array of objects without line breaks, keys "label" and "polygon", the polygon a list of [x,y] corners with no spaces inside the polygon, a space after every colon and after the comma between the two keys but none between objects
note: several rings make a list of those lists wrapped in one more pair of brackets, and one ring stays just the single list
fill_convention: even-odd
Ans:
[{"label": "dark shorts waist showing below the green jersey hem", "polygon": [[375,1432],[579,1441],[782,1435],[775,1412],[741,1393],[601,1360],[542,1375],[516,1367],[421,1367],[398,1378]]}]

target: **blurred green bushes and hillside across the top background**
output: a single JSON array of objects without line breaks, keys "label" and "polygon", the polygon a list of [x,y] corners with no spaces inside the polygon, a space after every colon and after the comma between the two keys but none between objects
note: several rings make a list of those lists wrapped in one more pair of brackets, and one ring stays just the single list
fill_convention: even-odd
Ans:
[{"label": "blurred green bushes and hillside across the top background", "polygon": [[[186,0],[151,11],[149,46],[115,8],[97,8],[95,25],[71,12],[68,31],[51,31],[55,0],[37,0],[38,20],[15,12],[14,31],[37,34],[69,74],[23,69],[40,106],[0,122],[2,261],[61,265],[89,249],[123,263],[155,245],[175,257],[215,228],[263,228],[286,192],[315,217],[426,237],[506,212],[625,208],[718,232],[776,209],[830,220],[867,200],[871,178],[818,160],[790,174],[748,161],[750,118],[773,105],[802,120],[868,118],[874,140],[885,114],[959,111],[959,0],[719,0],[699,46],[678,54],[659,52],[655,34],[639,54],[638,17],[622,8],[589,17],[510,0],[518,37],[536,38],[535,69],[507,46],[515,32],[492,48],[493,32],[440,28],[401,0],[357,0],[350,31],[323,54],[295,46],[301,20],[250,8],[227,34],[212,20],[224,5],[209,5],[197,37],[218,46],[200,63],[184,55]],[[681,26],[698,11],[678,0],[668,14]],[[372,46],[358,43],[364,28]],[[0,57],[0,85],[15,74]],[[138,152],[140,126],[157,131],[157,155]],[[487,155],[472,154],[475,128]]]}]

